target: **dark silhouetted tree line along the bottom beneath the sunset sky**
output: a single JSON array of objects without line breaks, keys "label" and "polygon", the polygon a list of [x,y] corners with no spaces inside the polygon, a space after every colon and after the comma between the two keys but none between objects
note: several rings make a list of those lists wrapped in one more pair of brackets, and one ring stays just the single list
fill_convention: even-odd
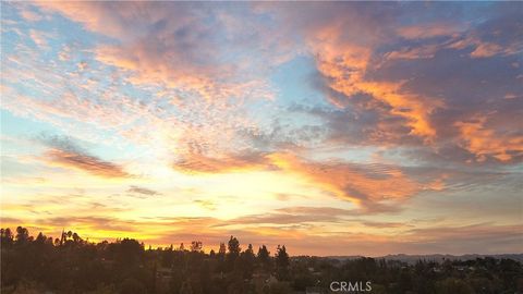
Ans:
[{"label": "dark silhouetted tree line along the bottom beneath the sunset sky", "polygon": [[398,260],[290,257],[285,246],[255,252],[230,236],[218,252],[194,241],[146,249],[133,238],[99,243],[63,232],[52,238],[1,229],[1,293],[331,293],[333,281],[369,281],[370,293],[523,293],[512,259]]}]

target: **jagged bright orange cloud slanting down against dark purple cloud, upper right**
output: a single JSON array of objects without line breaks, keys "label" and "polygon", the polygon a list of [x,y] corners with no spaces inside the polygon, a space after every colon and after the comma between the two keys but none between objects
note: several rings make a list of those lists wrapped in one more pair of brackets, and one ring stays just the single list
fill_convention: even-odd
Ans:
[{"label": "jagged bright orange cloud slanting down against dark purple cloud, upper right", "polygon": [[[430,124],[430,113],[443,107],[439,99],[429,99],[402,88],[405,82],[372,81],[366,77],[366,72],[372,68],[370,58],[373,49],[369,46],[343,40],[343,27],[332,24],[311,36],[313,50],[317,53],[317,68],[327,77],[328,86],[346,96],[348,102],[352,96],[367,94],[373,99],[389,106],[390,114],[404,118],[411,134],[430,142],[436,136],[436,130]],[[405,58],[413,53],[429,54],[426,52],[404,52]],[[398,58],[398,57],[397,57]],[[332,101],[331,101],[332,102]],[[338,107],[343,107],[343,101],[333,101]]]}]

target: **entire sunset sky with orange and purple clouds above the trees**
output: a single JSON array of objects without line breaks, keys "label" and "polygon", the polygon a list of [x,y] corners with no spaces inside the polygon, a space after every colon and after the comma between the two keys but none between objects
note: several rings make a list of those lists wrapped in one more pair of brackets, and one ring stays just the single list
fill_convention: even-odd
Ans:
[{"label": "entire sunset sky with orange and purple clouds above the trees", "polygon": [[3,2],[1,226],[523,248],[523,2]]}]

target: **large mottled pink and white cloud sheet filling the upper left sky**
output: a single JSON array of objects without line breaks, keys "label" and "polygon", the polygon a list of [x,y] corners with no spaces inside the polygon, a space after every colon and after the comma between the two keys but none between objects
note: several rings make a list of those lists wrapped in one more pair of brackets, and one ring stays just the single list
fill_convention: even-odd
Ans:
[{"label": "large mottled pink and white cloud sheet filling the upper left sky", "polygon": [[[248,4],[39,1],[32,9],[80,24],[93,41],[68,44],[57,53],[60,62],[50,64],[38,56],[16,53],[24,64],[37,64],[13,71],[13,82],[24,84],[21,73],[32,75],[33,68],[48,71],[34,74],[42,83],[33,85],[32,95],[13,93],[5,99],[2,107],[10,111],[62,128],[109,130],[123,140],[160,149],[165,160],[187,152],[195,142],[228,151],[248,145],[236,133],[240,126],[255,124],[247,115],[250,102],[275,98],[266,77],[281,62],[272,60],[272,52],[282,53],[265,36],[254,34],[268,33],[264,16]],[[248,16],[248,27],[234,25]],[[44,83],[42,76],[60,81]],[[64,120],[72,120],[74,127]]]}]

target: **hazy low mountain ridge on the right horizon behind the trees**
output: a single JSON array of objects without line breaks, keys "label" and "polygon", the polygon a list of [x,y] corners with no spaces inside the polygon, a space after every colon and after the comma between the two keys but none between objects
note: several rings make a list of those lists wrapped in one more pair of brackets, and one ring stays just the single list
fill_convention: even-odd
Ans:
[{"label": "hazy low mountain ridge on the right horizon behind the trees", "polygon": [[[338,260],[351,260],[361,258],[363,256],[328,256],[328,258]],[[408,264],[415,264],[419,259],[434,260],[436,262],[442,262],[446,259],[450,260],[472,260],[476,258],[492,257],[496,259],[513,259],[523,262],[523,254],[497,254],[497,255],[483,255],[483,254],[465,254],[465,255],[449,255],[449,254],[430,254],[430,255],[406,255],[394,254],[380,257],[374,257],[375,259],[384,258],[386,260],[400,260]]]}]

